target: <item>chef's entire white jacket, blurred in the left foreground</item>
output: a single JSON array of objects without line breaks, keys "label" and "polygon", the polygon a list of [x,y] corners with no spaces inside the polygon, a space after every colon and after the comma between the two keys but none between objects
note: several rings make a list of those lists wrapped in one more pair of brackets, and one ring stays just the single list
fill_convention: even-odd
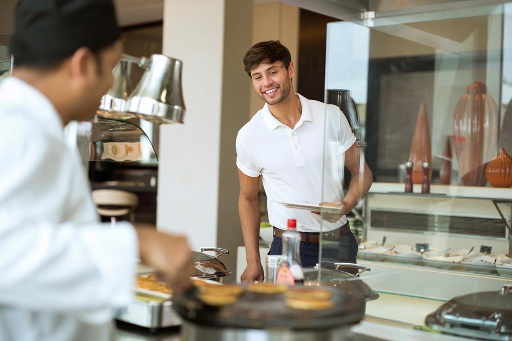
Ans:
[{"label": "chef's entire white jacket, blurred in the left foreground", "polygon": [[106,340],[132,298],[133,226],[101,224],[52,103],[0,85],[0,340]]}]

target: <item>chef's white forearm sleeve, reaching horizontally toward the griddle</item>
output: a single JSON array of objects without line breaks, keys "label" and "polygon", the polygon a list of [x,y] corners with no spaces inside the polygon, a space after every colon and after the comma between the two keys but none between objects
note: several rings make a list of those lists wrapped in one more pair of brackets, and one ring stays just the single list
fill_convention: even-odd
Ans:
[{"label": "chef's white forearm sleeve, reaching horizontally toward the griddle", "polygon": [[137,236],[128,223],[4,225],[0,304],[28,310],[122,307],[133,297]]}]

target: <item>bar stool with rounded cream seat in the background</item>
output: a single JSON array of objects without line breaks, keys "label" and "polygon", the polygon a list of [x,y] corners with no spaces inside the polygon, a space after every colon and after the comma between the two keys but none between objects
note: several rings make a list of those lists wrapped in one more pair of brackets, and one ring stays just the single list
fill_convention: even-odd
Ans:
[{"label": "bar stool with rounded cream seat in the background", "polygon": [[136,194],[121,190],[94,190],[92,196],[98,214],[110,217],[112,226],[115,226],[116,219],[127,214],[130,214],[130,222],[135,222],[134,212],[139,203]]}]

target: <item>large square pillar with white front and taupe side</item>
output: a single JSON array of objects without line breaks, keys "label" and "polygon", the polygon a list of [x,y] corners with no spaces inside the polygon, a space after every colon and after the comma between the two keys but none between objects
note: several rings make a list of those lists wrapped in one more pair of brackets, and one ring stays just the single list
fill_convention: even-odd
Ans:
[{"label": "large square pillar with white front and taupe side", "polygon": [[[183,61],[185,124],[160,129],[157,225],[193,249],[243,245],[235,139],[247,122],[242,58],[251,44],[252,2],[165,0],[163,53]],[[234,282],[234,276],[226,279]]]}]

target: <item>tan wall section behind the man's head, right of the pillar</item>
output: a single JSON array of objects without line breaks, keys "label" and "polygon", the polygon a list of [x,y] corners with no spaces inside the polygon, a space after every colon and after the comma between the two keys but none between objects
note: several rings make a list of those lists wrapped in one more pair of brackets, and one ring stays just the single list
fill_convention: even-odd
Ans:
[{"label": "tan wall section behind the man's head, right of the pillar", "polygon": [[[273,3],[254,5],[252,17],[252,44],[265,40],[280,40],[288,50],[290,50],[293,63],[297,64],[299,16],[300,9],[288,4]],[[247,47],[247,49],[248,48],[249,47]],[[295,68],[295,70],[297,70],[297,68]],[[300,75],[297,74],[293,79],[293,87],[295,90],[297,90],[298,77],[300,77]],[[252,117],[263,107],[265,102],[254,92],[252,82],[247,74],[246,79],[251,87],[249,117]]]}]

